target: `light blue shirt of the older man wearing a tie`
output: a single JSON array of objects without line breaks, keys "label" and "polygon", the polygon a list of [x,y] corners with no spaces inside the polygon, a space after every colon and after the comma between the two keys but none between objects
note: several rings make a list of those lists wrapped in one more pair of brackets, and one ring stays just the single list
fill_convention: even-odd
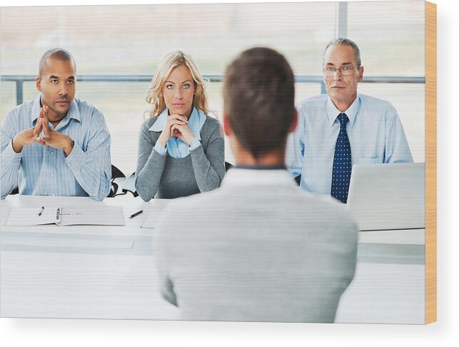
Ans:
[{"label": "light blue shirt of the older man wearing a tie", "polygon": [[[287,169],[293,177],[301,174],[304,190],[330,194],[341,111],[326,94],[301,101],[297,111],[298,126],[287,141]],[[388,101],[358,94],[344,113],[352,164],[413,162],[397,111]]]}]

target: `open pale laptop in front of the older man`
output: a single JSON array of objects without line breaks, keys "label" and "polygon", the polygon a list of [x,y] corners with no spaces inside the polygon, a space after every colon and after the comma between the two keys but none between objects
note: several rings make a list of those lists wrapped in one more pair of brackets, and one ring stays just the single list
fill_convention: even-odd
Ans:
[{"label": "open pale laptop in front of the older man", "polygon": [[347,205],[359,230],[425,228],[425,163],[353,165]]}]

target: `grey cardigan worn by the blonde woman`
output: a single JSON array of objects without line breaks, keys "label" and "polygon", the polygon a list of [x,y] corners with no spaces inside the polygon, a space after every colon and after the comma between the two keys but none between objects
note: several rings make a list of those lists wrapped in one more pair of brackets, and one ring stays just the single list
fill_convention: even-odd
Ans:
[{"label": "grey cardigan worn by the blonde woman", "polygon": [[220,124],[206,116],[201,128],[201,146],[185,158],[169,154],[161,156],[153,147],[161,131],[148,129],[158,116],[143,122],[138,136],[136,191],[144,201],[157,198],[178,198],[211,191],[225,175],[225,144]]}]

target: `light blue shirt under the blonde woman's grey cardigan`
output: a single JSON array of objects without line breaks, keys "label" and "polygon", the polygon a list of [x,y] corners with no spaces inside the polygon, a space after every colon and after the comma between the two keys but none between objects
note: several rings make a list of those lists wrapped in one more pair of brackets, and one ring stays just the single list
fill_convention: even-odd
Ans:
[{"label": "light blue shirt under the blonde woman's grey cardigan", "polygon": [[[149,131],[163,131],[164,126],[166,126],[167,122],[167,117],[168,117],[168,109],[164,109],[161,114],[158,116],[158,119],[156,120],[155,124],[151,126]],[[181,139],[178,139],[176,136],[172,136],[171,139],[168,139],[166,147],[163,147],[163,145],[157,141],[154,149],[161,154],[161,156],[165,156],[166,153],[169,154],[169,156],[172,156],[173,158],[185,158],[190,154],[190,150],[198,148],[198,146],[201,146],[201,128],[204,125],[204,122],[206,121],[206,115],[203,114],[201,111],[199,111],[196,108],[193,108],[193,111],[191,112],[190,118],[188,119],[188,128],[191,130],[193,135],[195,136],[193,141],[191,141],[190,146],[186,144],[185,142],[181,141]]]}]

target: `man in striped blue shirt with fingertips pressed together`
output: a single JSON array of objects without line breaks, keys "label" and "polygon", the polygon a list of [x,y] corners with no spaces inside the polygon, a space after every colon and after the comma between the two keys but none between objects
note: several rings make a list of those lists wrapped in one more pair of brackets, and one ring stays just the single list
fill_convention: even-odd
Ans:
[{"label": "man in striped blue shirt with fingertips pressed together", "polygon": [[1,126],[1,198],[19,193],[91,196],[110,191],[110,134],[104,115],[74,99],[76,64],[65,49],[41,57],[40,95],[16,106]]}]

